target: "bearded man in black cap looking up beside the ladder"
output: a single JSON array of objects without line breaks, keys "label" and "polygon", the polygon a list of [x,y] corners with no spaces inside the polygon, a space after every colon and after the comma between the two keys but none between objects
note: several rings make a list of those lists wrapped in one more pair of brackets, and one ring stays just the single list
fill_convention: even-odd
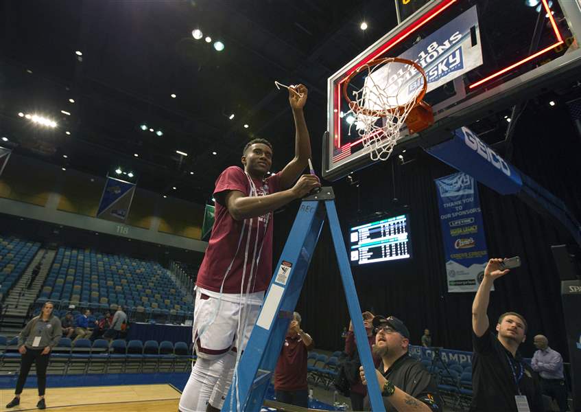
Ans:
[{"label": "bearded man in black cap looking up beside the ladder", "polygon": [[[373,353],[380,356],[383,365],[376,369],[376,378],[387,412],[442,411],[438,385],[416,359],[407,354],[410,332],[396,317],[376,316]],[[363,367],[359,368],[361,382],[367,385]],[[370,410],[368,397],[364,407]]]}]

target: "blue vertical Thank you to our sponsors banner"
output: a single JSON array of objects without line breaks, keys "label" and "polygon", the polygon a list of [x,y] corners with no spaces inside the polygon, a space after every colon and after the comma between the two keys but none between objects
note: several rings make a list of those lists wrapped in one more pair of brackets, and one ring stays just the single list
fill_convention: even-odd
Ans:
[{"label": "blue vertical Thank you to our sponsors banner", "polygon": [[460,172],[435,179],[448,292],[475,292],[488,262],[478,188]]}]

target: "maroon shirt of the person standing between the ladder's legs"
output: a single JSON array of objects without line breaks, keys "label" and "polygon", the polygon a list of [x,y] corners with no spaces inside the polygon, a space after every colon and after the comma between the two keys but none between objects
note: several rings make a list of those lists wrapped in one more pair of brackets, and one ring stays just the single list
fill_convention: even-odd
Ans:
[{"label": "maroon shirt of the person standing between the ladder's legs", "polygon": [[305,345],[298,334],[287,335],[274,369],[274,389],[276,391],[301,391],[309,389],[307,384],[307,358],[314,346]]}]

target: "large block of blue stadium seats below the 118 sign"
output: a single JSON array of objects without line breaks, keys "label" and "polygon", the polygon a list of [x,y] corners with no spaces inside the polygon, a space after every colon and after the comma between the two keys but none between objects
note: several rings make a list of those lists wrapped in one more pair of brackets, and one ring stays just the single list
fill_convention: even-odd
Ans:
[{"label": "large block of blue stadium seats below the 118 sign", "polygon": [[183,319],[193,312],[185,293],[156,262],[60,247],[37,303],[115,310],[123,305],[138,321]]}]

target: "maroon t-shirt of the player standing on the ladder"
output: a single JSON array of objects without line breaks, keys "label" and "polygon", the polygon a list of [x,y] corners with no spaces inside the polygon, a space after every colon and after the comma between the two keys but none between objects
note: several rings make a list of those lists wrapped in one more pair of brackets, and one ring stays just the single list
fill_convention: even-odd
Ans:
[{"label": "maroon t-shirt of the player standing on the ladder", "polygon": [[[232,268],[228,272],[224,282],[223,293],[241,293],[240,287],[242,282],[242,273],[244,268],[244,258],[246,254],[246,244],[248,242],[248,258],[246,259],[246,280],[244,290],[250,277],[253,257],[258,258],[258,253],[262,245],[259,264],[254,264],[252,273],[254,281],[250,287],[250,292],[261,292],[268,288],[270,278],[272,277],[272,212],[263,216],[252,218],[252,225],[249,225],[250,219],[234,220],[228,208],[223,204],[224,195],[230,190],[239,190],[245,196],[250,196],[250,181],[248,176],[241,168],[230,166],[218,177],[214,190],[215,214],[212,235],[208,242],[208,249],[204,255],[202,266],[198,271],[198,280],[195,282],[200,288],[220,292],[220,286],[224,280],[226,269],[233,262]],[[266,196],[280,190],[280,176],[273,174],[263,181],[252,179],[256,187],[258,196]],[[244,236],[240,240],[240,233],[244,225]],[[265,231],[266,225],[266,231]],[[250,226],[250,228],[249,228]],[[258,235],[258,242],[257,240]],[[240,242],[239,242],[240,241]],[[238,243],[240,246],[238,247]],[[256,255],[254,255],[254,245],[256,245]],[[236,249],[238,252],[236,253]],[[236,256],[235,256],[236,254]]]}]

